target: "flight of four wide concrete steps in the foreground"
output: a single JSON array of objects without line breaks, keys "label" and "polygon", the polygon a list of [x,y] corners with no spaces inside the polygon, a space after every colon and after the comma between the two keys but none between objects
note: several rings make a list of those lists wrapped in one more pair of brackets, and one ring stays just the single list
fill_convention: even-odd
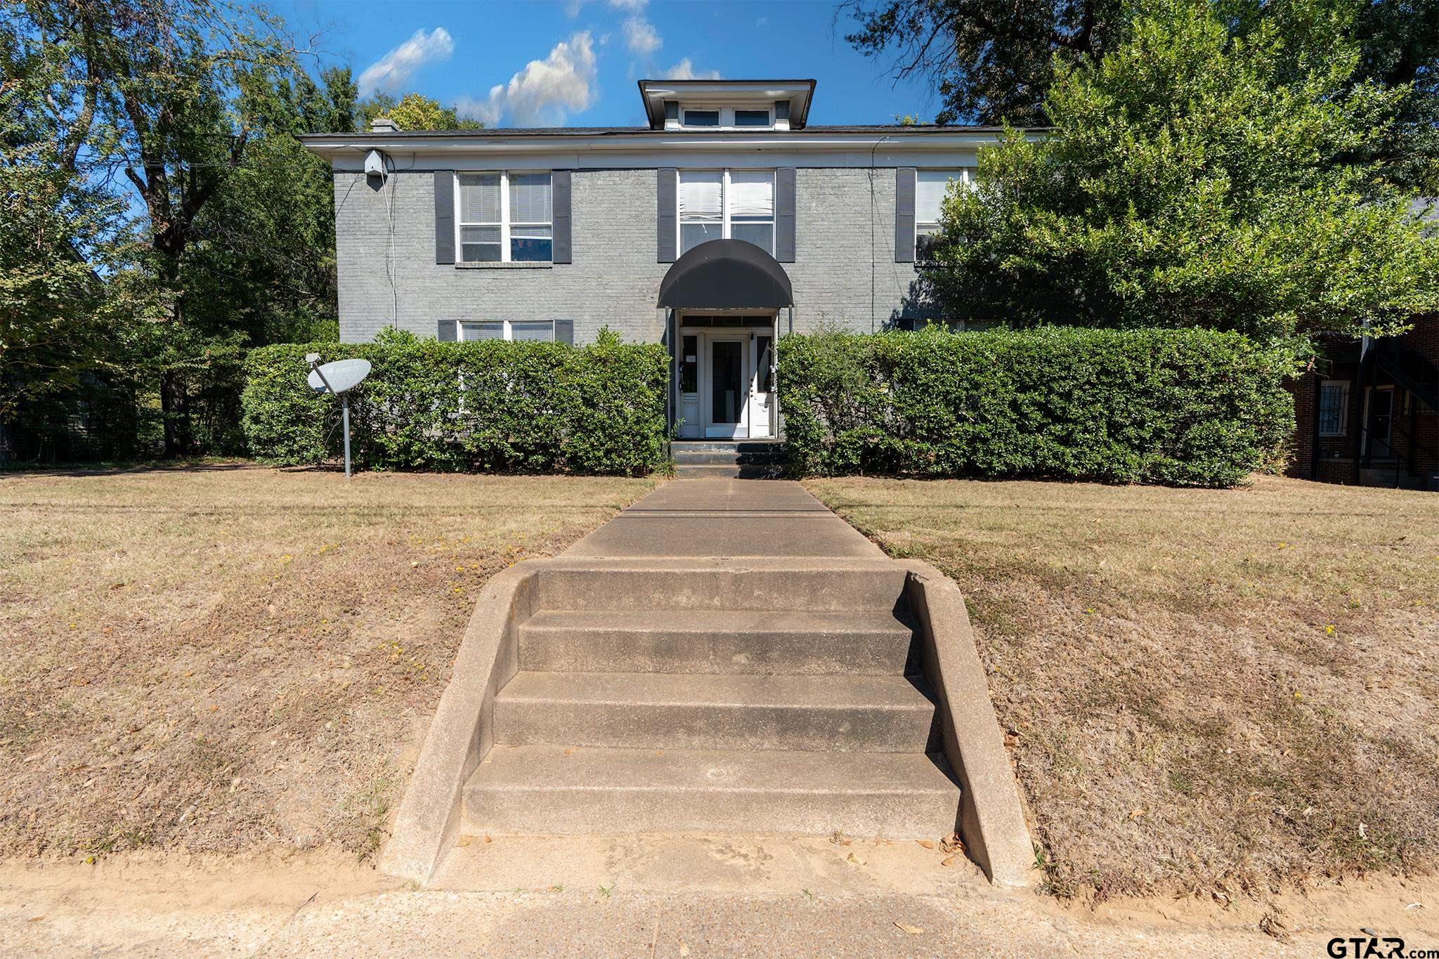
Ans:
[{"label": "flight of four wide concrete steps in the foreground", "polygon": [[960,788],[891,579],[871,564],[547,575],[460,828],[950,832]]}]

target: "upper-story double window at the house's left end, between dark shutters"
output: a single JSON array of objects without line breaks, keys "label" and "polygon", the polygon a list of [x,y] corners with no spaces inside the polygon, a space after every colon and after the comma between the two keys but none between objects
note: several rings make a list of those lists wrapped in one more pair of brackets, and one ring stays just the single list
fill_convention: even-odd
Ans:
[{"label": "upper-story double window at the house's left end, between dark shutters", "polygon": [[547,263],[553,230],[548,173],[456,174],[455,229],[463,263]]}]

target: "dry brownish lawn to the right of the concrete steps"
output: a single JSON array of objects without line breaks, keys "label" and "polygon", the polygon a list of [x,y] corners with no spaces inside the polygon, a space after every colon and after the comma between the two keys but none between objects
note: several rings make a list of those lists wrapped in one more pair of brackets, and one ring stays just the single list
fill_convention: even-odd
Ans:
[{"label": "dry brownish lawn to the right of the concrete steps", "polygon": [[1433,868],[1439,496],[807,487],[964,589],[1056,893]]}]

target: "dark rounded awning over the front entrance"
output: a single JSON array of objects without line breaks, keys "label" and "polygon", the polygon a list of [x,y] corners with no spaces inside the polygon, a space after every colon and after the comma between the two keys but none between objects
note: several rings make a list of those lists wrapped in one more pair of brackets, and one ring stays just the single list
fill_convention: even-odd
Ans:
[{"label": "dark rounded awning over the front entrance", "polygon": [[659,285],[659,305],[673,309],[778,309],[793,306],[790,277],[778,262],[744,240],[709,240],[675,260]]}]

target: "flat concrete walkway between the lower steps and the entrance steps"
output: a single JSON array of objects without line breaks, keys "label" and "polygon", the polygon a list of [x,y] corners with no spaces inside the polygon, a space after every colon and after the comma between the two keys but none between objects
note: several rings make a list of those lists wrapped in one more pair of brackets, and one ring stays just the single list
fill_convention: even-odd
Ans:
[{"label": "flat concrete walkway between the lower steps and the entrance steps", "polygon": [[884,559],[799,483],[741,479],[665,483],[564,555]]}]

